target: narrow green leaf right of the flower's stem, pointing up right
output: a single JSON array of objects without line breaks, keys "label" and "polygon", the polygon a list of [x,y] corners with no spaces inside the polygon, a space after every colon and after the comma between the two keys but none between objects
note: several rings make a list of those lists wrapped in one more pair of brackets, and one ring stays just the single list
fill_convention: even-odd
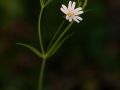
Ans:
[{"label": "narrow green leaf right of the flower's stem, pointing up right", "polygon": [[73,33],[67,35],[65,38],[63,38],[61,41],[59,41],[59,43],[58,43],[58,44],[54,47],[54,49],[51,51],[50,55],[48,55],[48,57],[51,57],[52,55],[54,55],[54,54],[58,51],[58,49],[63,45],[63,43],[64,43],[69,37],[71,37],[72,35],[73,35]]}]

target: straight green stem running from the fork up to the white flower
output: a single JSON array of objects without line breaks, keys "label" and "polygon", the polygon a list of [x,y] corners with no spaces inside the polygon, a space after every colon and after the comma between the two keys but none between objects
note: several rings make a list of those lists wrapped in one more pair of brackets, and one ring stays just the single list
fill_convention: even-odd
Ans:
[{"label": "straight green stem running from the fork up to the white flower", "polygon": [[69,28],[72,26],[74,22],[71,22],[66,29],[60,34],[60,36],[57,38],[57,40],[55,41],[55,43],[52,45],[52,47],[50,48],[50,50],[47,52],[47,55],[49,56],[49,54],[52,52],[52,50],[54,49],[54,47],[58,44],[58,42],[60,41],[60,39],[64,36],[64,34],[69,30]]}]

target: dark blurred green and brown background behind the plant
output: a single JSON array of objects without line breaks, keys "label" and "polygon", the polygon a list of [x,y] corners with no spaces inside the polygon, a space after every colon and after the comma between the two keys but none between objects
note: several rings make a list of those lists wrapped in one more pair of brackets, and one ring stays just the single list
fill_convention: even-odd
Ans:
[{"label": "dark blurred green and brown background behind the plant", "polygon": [[[68,1],[45,8],[45,47],[65,19],[60,7]],[[0,0],[0,90],[37,90],[41,59],[15,43],[39,48],[39,11],[39,0]],[[74,35],[47,60],[44,90],[120,90],[120,0],[88,0],[86,11],[70,28]]]}]

